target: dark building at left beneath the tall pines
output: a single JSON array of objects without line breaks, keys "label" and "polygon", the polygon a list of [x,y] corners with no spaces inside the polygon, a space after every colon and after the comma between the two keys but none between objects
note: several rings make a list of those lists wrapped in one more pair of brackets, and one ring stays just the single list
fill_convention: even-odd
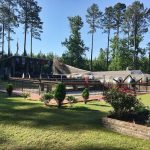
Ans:
[{"label": "dark building at left beneath the tall pines", "polygon": [[47,59],[31,58],[27,56],[12,56],[0,60],[0,76],[33,77],[48,76],[52,74],[53,61]]}]

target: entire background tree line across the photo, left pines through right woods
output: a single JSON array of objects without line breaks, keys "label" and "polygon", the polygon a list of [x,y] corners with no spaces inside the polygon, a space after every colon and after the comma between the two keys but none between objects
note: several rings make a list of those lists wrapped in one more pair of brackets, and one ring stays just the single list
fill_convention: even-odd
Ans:
[{"label": "entire background tree line across the photo, left pines through right woods", "polygon": [[[41,52],[33,54],[33,38],[40,40],[43,22],[39,16],[42,8],[36,0],[0,0],[0,44],[2,56],[7,44],[8,56],[11,56],[11,41],[15,29],[23,26],[24,29],[24,56],[52,59],[53,53],[48,55]],[[87,8],[86,23],[89,25],[88,34],[91,35],[91,48],[85,46],[81,38],[81,29],[84,26],[82,18],[77,15],[68,17],[71,35],[62,45],[66,51],[60,59],[78,68],[91,71],[141,69],[150,72],[150,42],[144,48],[140,47],[144,34],[149,32],[150,8],[145,8],[140,1],[126,6],[117,3],[100,11],[97,4]],[[105,49],[100,48],[99,56],[93,59],[94,35],[97,30],[107,34]],[[27,34],[30,34],[30,54],[26,51]],[[101,40],[101,39],[99,39]],[[91,52],[90,60],[86,52]],[[16,55],[19,46],[17,43]]]}]

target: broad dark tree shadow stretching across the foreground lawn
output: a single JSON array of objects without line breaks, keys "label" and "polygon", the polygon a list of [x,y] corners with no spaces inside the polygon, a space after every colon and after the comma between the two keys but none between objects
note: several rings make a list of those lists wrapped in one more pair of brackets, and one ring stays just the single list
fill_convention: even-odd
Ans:
[{"label": "broad dark tree shadow stretching across the foreground lawn", "polygon": [[3,100],[0,99],[0,123],[33,128],[60,126],[67,130],[101,128],[100,118],[106,116],[107,113],[89,109],[87,106],[88,104],[86,107],[82,105],[73,106],[73,108],[63,106],[58,109],[23,99],[4,97]]}]

